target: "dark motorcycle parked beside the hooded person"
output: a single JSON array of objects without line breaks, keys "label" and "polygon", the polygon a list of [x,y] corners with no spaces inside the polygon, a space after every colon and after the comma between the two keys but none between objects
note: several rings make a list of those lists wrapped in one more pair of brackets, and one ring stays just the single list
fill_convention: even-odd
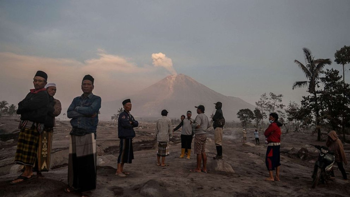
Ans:
[{"label": "dark motorcycle parked beside the hooded person", "polygon": [[[311,144],[310,144],[311,145]],[[334,164],[334,153],[325,146],[311,145],[320,151],[318,159],[315,163],[314,171],[312,173],[312,185],[311,188],[315,188],[318,182],[326,182],[331,177],[331,169]]]}]

